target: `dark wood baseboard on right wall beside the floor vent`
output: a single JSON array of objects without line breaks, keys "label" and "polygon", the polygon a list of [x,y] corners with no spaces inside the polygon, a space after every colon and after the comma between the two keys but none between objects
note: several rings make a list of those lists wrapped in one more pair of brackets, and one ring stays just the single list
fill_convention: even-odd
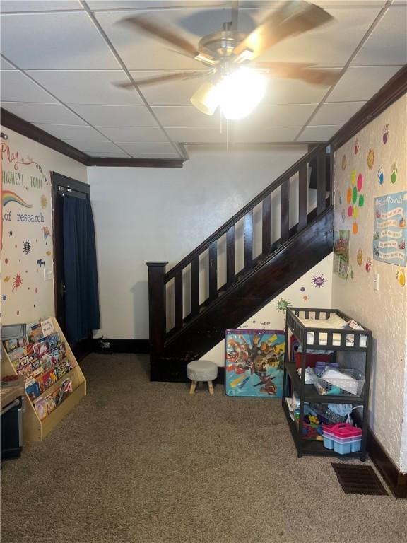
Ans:
[{"label": "dark wood baseboard on right wall beside the floor vent", "polygon": [[407,473],[401,473],[381,443],[369,430],[367,452],[396,498],[407,498]]}]

